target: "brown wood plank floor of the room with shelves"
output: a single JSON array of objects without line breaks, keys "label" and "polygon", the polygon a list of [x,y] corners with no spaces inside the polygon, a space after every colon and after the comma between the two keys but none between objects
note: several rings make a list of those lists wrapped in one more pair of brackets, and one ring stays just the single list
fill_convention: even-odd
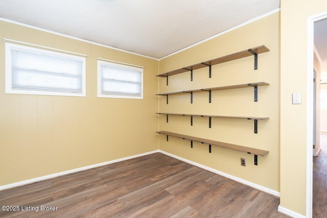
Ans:
[{"label": "brown wood plank floor of the room with shelves", "polygon": [[288,217],[273,195],[160,153],[3,190],[0,202],[19,206],[0,217]]}]

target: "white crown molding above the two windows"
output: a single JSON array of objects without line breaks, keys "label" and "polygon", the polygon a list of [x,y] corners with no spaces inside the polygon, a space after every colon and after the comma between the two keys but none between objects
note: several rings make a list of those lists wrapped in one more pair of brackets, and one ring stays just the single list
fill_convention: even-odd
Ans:
[{"label": "white crown molding above the two windows", "polygon": [[55,35],[59,35],[59,36],[63,36],[63,37],[67,37],[67,38],[71,38],[71,39],[75,39],[75,40],[79,40],[79,41],[91,43],[93,45],[105,47],[105,48],[108,48],[108,49],[113,49],[113,50],[116,50],[116,51],[126,52],[126,53],[129,53],[129,54],[133,54],[133,55],[137,55],[137,56],[141,56],[141,57],[146,57],[146,58],[158,60],[158,58],[150,57],[150,56],[143,55],[143,54],[138,54],[138,53],[135,53],[135,52],[131,52],[131,51],[127,51],[127,50],[124,50],[124,49],[115,48],[115,47],[112,47],[112,46],[107,46],[107,45],[104,45],[102,43],[98,43],[98,42],[95,42],[95,41],[90,41],[90,40],[82,39],[82,38],[79,38],[79,37],[75,37],[75,36],[71,36],[71,35],[59,33],[59,32],[56,32],[56,31],[47,30],[47,29],[36,27],[36,26],[33,26],[33,25],[21,23],[19,21],[15,21],[15,20],[3,18],[3,17],[0,17],[0,20],[5,21],[5,22],[8,22],[8,23],[11,23],[11,24],[16,24],[16,25],[19,25],[19,26],[28,27],[28,28],[31,28],[31,29],[40,30],[40,31],[43,31],[43,32],[52,33],[52,34],[55,34]]}]

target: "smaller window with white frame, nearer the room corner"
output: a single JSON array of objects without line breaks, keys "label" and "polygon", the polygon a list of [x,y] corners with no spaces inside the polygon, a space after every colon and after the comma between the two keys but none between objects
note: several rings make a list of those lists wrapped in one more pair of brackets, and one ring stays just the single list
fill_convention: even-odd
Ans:
[{"label": "smaller window with white frame, nearer the room corner", "polygon": [[98,97],[143,99],[143,68],[98,60]]}]

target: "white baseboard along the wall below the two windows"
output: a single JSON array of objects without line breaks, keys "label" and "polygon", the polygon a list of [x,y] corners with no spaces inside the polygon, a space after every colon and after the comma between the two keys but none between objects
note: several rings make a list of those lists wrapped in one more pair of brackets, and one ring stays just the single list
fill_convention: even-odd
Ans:
[{"label": "white baseboard along the wall below the two windows", "polygon": [[11,184],[8,184],[8,185],[0,186],[0,190],[13,188],[13,187],[17,187],[17,186],[22,186],[22,185],[27,185],[27,184],[39,182],[39,181],[42,181],[42,180],[48,180],[48,179],[56,178],[56,177],[59,177],[59,176],[64,176],[64,175],[67,175],[67,174],[70,174],[70,173],[95,168],[95,167],[98,167],[98,166],[103,166],[103,165],[107,165],[107,164],[111,164],[111,163],[125,161],[125,160],[129,160],[129,159],[133,159],[133,158],[138,158],[138,157],[142,157],[142,156],[145,156],[145,155],[151,155],[151,154],[154,154],[154,153],[157,153],[157,152],[160,152],[160,151],[159,150],[154,150],[154,151],[146,152],[146,153],[139,154],[139,155],[134,155],[134,156],[126,157],[126,158],[120,158],[120,159],[116,159],[116,160],[112,160],[112,161],[107,161],[107,162],[103,162],[103,163],[84,166],[84,167],[71,169],[71,170],[67,170],[67,171],[63,171],[63,172],[57,172],[57,173],[54,173],[54,174],[51,174],[51,175],[38,177],[38,178],[30,179],[30,180],[24,180],[24,181],[20,181],[20,182],[16,182],[16,183],[11,183]]}]

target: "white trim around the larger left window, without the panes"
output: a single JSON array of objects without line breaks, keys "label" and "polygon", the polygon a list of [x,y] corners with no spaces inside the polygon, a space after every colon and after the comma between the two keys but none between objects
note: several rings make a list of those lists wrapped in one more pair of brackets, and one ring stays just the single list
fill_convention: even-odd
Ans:
[{"label": "white trim around the larger left window, without the panes", "polygon": [[[38,91],[38,90],[14,90],[12,89],[12,56],[11,49],[22,49],[31,52],[37,52],[41,54],[56,55],[60,57],[68,57],[76,60],[82,61],[82,93],[68,93],[68,92],[52,92],[52,91]],[[5,77],[5,93],[6,94],[26,94],[26,95],[54,95],[54,96],[75,96],[75,97],[86,97],[86,58],[76,55],[69,55],[60,52],[53,52],[44,49],[37,49],[33,47],[27,47],[22,45],[17,45],[13,43],[5,43],[5,65],[6,65],[6,77]]]}]

